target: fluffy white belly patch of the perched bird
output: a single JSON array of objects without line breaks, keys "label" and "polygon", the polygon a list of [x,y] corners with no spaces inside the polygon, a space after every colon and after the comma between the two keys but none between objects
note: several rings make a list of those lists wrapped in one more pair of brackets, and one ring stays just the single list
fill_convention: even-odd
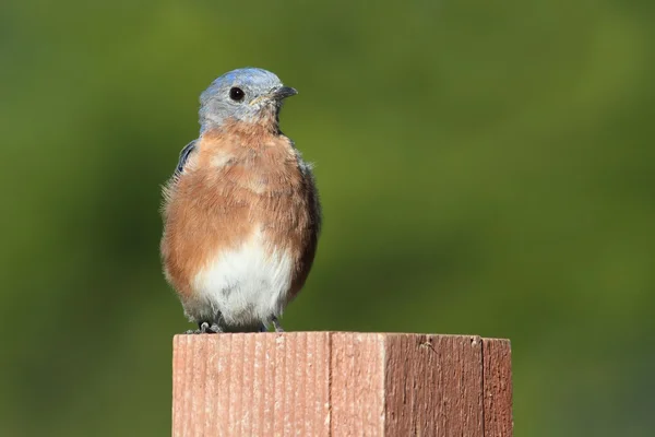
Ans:
[{"label": "fluffy white belly patch of the perched bird", "polygon": [[240,247],[218,252],[195,275],[195,296],[228,326],[269,323],[287,303],[294,268],[287,251],[270,249],[258,228]]}]

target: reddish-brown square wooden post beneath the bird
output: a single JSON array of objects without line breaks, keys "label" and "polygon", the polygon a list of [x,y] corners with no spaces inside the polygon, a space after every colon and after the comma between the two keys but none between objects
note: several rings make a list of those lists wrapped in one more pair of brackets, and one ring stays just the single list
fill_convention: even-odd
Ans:
[{"label": "reddish-brown square wooden post beneath the bird", "polygon": [[176,335],[172,435],[512,436],[510,342],[475,335]]}]

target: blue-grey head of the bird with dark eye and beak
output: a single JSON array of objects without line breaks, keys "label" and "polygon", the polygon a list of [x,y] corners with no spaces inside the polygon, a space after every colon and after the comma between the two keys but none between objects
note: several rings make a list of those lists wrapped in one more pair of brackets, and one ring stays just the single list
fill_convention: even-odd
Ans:
[{"label": "blue-grey head of the bird with dark eye and beak", "polygon": [[298,94],[270,71],[258,68],[234,70],[216,79],[200,95],[201,130],[221,128],[229,121],[277,129],[284,98]]}]

